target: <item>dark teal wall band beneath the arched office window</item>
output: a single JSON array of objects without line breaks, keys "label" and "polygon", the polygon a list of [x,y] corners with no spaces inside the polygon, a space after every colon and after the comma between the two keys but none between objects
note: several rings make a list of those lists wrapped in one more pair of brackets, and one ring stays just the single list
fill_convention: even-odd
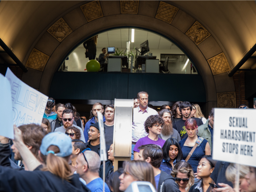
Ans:
[{"label": "dark teal wall band beneath the arched office window", "polygon": [[49,97],[54,99],[132,99],[147,91],[150,101],[206,102],[200,75],[56,72]]}]

